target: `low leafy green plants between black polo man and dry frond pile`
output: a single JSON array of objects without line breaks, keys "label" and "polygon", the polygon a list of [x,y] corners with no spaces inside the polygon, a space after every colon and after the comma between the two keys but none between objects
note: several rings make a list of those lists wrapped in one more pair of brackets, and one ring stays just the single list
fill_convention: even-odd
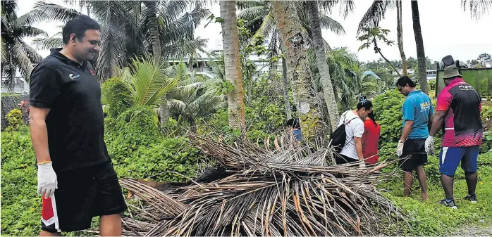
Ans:
[{"label": "low leafy green plants between black polo man and dry frond pile", "polygon": [[178,136],[152,146],[140,146],[134,155],[118,164],[117,172],[120,177],[183,182],[187,181],[185,177],[196,177],[200,157],[203,154],[187,138]]}]

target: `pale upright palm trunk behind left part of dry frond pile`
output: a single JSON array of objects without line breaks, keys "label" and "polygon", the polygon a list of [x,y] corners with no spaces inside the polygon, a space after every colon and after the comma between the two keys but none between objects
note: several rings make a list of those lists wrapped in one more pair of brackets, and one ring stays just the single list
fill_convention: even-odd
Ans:
[{"label": "pale upright palm trunk behind left part of dry frond pile", "polygon": [[226,79],[234,89],[227,94],[229,126],[246,132],[244,92],[242,91],[241,61],[239,57],[238,22],[235,1],[220,1],[222,41]]}]

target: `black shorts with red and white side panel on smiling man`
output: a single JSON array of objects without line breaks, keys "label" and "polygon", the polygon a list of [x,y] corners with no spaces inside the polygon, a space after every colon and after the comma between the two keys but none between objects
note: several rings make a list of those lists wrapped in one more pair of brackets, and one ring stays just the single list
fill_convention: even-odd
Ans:
[{"label": "black shorts with red and white side panel on smiling man", "polygon": [[92,217],[120,214],[127,206],[111,162],[57,172],[54,196],[43,198],[41,229],[51,233],[89,229]]}]

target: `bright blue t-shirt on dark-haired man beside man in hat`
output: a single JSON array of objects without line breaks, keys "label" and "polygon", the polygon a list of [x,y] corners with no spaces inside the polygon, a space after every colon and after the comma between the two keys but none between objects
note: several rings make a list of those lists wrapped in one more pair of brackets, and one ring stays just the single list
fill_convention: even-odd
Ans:
[{"label": "bright blue t-shirt on dark-haired man beside man in hat", "polygon": [[413,121],[412,131],[408,134],[408,139],[426,139],[429,136],[429,115],[433,115],[431,98],[421,90],[415,90],[408,94],[402,106],[403,127],[405,121]]}]

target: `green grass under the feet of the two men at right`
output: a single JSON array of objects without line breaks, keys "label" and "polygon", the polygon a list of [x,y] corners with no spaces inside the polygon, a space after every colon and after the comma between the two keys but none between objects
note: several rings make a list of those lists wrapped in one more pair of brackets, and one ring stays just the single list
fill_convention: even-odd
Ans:
[{"label": "green grass under the feet of the two men at right", "polygon": [[[456,177],[463,173],[459,169]],[[414,180],[413,193],[410,198],[403,197],[403,181],[393,180],[383,184],[387,196],[402,212],[409,217],[409,226],[400,225],[397,228],[386,229],[388,235],[398,236],[443,236],[459,232],[462,226],[470,224],[492,225],[492,167],[482,167],[479,170],[479,181],[476,186],[478,203],[469,203],[463,200],[467,195],[467,183],[464,179],[455,181],[455,202],[458,209],[453,210],[438,204],[442,200],[444,191],[441,184],[430,183],[428,195],[430,200],[422,202],[422,192],[419,182]],[[464,175],[464,174],[462,174]]]}]

